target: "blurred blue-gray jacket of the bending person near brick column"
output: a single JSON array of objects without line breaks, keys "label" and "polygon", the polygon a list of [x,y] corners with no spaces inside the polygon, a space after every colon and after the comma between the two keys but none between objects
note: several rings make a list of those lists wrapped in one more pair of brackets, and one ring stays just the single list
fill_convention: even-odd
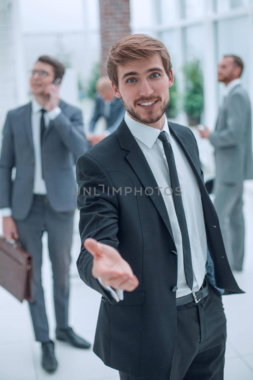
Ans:
[{"label": "blurred blue-gray jacket of the bending person near brick column", "polygon": [[110,104],[108,115],[105,114],[105,102],[98,94],[96,94],[95,102],[93,117],[90,121],[90,131],[94,131],[96,122],[101,116],[105,118],[107,131],[111,133],[116,131],[126,112],[122,100],[115,97]]}]

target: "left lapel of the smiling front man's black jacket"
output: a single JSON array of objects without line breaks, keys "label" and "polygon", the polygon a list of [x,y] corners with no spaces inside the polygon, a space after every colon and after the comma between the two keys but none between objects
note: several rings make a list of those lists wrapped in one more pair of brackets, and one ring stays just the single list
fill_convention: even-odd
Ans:
[{"label": "left lapel of the smiling front man's black jacket", "polygon": [[141,183],[143,184],[143,187],[144,188],[151,187],[153,189],[153,193],[151,189],[147,189],[147,193],[148,193],[148,190],[149,190],[149,193],[152,193],[150,195],[150,198],[152,199],[152,202],[156,206],[157,211],[161,215],[162,220],[165,223],[171,235],[171,238],[174,242],[173,233],[172,233],[171,224],[170,224],[170,218],[168,216],[168,212],[167,212],[165,203],[163,201],[162,194],[160,193],[160,195],[158,195],[158,189],[156,189],[158,185],[154,178],[154,175],[148,165],[148,162],[143,152],[141,151],[140,147],[135,141],[134,136],[129,131],[129,128],[127,127],[124,120],[121,122],[118,129],[116,130],[116,135],[118,137],[121,148],[129,151],[129,153],[126,155],[126,159],[129,162],[129,164],[132,166],[132,169],[134,170],[137,177],[140,179]]}]

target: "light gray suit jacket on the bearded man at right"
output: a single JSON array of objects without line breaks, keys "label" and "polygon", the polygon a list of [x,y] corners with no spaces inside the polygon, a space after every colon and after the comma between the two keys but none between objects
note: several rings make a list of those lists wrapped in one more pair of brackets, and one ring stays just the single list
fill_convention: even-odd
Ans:
[{"label": "light gray suit jacket on the bearded man at right", "polygon": [[250,99],[240,84],[229,92],[220,108],[210,142],[215,147],[218,181],[253,179]]}]

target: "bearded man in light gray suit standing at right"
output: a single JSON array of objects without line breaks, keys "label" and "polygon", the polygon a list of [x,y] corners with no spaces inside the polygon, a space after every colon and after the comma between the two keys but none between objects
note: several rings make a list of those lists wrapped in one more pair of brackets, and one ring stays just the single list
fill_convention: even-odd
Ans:
[{"label": "bearded man in light gray suit standing at right", "polygon": [[215,201],[229,263],[242,271],[244,259],[243,181],[253,179],[251,106],[241,85],[243,62],[225,55],[218,65],[218,81],[226,86],[216,128],[201,131],[215,147]]}]

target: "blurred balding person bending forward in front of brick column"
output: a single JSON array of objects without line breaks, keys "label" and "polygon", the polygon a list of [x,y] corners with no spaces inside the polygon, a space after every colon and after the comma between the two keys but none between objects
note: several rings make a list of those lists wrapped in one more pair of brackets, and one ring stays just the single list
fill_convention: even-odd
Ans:
[{"label": "blurred balding person bending forward in front of brick column", "polygon": [[106,130],[99,135],[89,135],[91,145],[97,144],[103,138],[114,132],[118,128],[124,117],[126,109],[121,101],[115,97],[111,81],[108,76],[101,76],[97,81],[97,94],[95,97],[95,108],[90,121],[90,132],[93,133],[97,120],[104,117]]}]

